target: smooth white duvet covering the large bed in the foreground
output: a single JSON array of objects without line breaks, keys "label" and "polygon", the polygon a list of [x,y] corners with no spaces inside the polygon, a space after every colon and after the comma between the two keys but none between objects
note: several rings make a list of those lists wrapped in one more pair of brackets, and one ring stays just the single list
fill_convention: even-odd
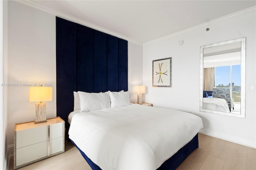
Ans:
[{"label": "smooth white duvet covering the large bed in the foreground", "polygon": [[103,170],[155,170],[202,127],[190,113],[132,104],[74,114],[69,137]]}]

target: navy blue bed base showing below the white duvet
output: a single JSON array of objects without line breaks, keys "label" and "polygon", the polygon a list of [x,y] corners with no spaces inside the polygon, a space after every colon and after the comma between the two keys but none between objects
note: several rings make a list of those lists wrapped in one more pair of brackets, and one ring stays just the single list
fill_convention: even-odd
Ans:
[{"label": "navy blue bed base showing below the white duvet", "polygon": [[[72,140],[71,142],[76,146],[76,144]],[[78,146],[76,146],[76,148],[78,148]],[[194,138],[190,140],[188,144],[178,150],[176,154],[166,160],[159,168],[157,168],[157,170],[175,170],[183,162],[183,160],[185,160],[188,155],[190,155],[197,148],[198,134],[196,134],[196,136],[194,136]],[[86,154],[82,150],[80,150],[80,148],[78,148],[78,150],[80,151],[86,162],[90,165],[92,170],[101,170],[101,168],[98,165],[94,164],[94,162],[92,162],[92,160],[90,160],[90,158],[88,158]]]}]

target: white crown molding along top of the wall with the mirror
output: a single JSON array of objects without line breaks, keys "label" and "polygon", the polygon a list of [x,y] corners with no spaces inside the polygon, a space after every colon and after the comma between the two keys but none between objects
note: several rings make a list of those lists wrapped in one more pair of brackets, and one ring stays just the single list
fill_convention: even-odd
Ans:
[{"label": "white crown molding along top of the wall with the mirror", "polygon": [[192,32],[192,31],[194,31],[196,29],[199,29],[199,28],[203,28],[203,27],[206,27],[206,26],[211,26],[211,25],[219,24],[221,22],[232,20],[232,19],[237,18],[239,16],[244,16],[246,14],[250,14],[250,13],[253,13],[253,12],[256,12],[256,6],[253,6],[251,8],[247,8],[245,10],[241,10],[239,12],[235,12],[233,14],[229,14],[227,16],[223,16],[223,17],[217,18],[215,20],[211,20],[209,22],[205,22],[203,24],[199,24],[197,26],[194,26],[194,27],[191,27],[191,28],[188,28],[188,29],[185,29],[185,30],[181,30],[179,32],[175,32],[173,34],[169,34],[168,36],[163,36],[161,38],[157,38],[155,40],[145,42],[145,43],[143,43],[143,45],[159,42],[159,41],[162,41],[162,40],[166,40],[166,39],[169,39],[169,38],[172,38],[172,37],[176,37],[176,36],[188,33],[188,32]]}]

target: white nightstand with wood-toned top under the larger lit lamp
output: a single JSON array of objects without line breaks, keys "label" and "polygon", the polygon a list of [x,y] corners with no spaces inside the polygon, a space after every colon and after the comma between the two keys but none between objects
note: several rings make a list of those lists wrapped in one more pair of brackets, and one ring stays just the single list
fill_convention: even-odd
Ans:
[{"label": "white nightstand with wood-toned top under the larger lit lamp", "polygon": [[65,123],[60,117],[45,123],[14,127],[14,169],[60,154],[65,150]]}]

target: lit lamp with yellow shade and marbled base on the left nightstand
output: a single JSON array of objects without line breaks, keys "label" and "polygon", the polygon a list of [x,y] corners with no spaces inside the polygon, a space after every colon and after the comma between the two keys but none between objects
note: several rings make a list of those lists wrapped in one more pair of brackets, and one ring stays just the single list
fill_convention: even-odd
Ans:
[{"label": "lit lamp with yellow shade and marbled base on the left nightstand", "polygon": [[37,123],[44,123],[46,121],[46,103],[42,101],[52,101],[52,87],[30,87],[29,91],[30,102],[36,103],[36,121]]}]

